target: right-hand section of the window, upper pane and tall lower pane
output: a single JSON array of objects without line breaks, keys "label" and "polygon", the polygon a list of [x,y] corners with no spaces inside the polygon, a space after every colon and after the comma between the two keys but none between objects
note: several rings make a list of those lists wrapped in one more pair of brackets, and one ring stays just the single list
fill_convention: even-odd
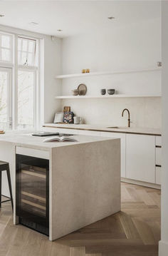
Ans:
[{"label": "right-hand section of the window, upper pane and tall lower pane", "polygon": [[36,40],[18,38],[18,128],[33,128],[36,119]]}]

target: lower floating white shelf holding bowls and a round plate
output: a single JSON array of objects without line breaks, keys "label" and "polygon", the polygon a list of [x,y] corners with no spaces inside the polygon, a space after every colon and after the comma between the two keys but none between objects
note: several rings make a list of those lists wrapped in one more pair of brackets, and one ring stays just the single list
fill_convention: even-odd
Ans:
[{"label": "lower floating white shelf holding bowls and a round plate", "polygon": [[114,95],[99,95],[99,96],[56,96],[55,98],[64,99],[64,98],[72,98],[72,99],[84,99],[84,98],[133,98],[133,97],[161,97],[160,94],[145,94],[145,95],[135,95],[135,94],[114,94]]}]

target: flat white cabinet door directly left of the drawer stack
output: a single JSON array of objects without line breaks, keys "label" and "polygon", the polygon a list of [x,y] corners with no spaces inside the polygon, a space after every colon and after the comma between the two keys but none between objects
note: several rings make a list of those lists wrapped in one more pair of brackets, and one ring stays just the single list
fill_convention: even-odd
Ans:
[{"label": "flat white cabinet door directly left of the drawer stack", "polygon": [[155,183],[155,137],[126,134],[126,178]]}]

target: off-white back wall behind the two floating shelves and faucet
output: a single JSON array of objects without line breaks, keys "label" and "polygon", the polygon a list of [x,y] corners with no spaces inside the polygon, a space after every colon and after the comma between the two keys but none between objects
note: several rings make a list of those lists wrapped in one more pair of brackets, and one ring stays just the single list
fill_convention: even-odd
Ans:
[{"label": "off-white back wall behind the two floating shelves and faucet", "polygon": [[[159,19],[140,24],[93,31],[63,39],[63,73],[110,71],[155,67],[161,60],[161,23]],[[99,95],[101,88],[115,88],[117,93],[161,93],[161,71],[89,78],[63,79],[62,95],[70,95],[85,83],[88,95]],[[132,126],[161,127],[160,98],[117,98],[110,100],[64,100],[86,123],[123,124],[123,108],[130,108]],[[150,118],[149,118],[150,116]]]}]

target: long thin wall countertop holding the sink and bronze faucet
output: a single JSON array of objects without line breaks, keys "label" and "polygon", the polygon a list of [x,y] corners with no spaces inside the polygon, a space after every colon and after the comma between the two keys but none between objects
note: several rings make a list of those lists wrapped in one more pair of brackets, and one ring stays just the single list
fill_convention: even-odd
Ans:
[{"label": "long thin wall countertop holding the sink and bronze faucet", "polygon": [[144,134],[144,135],[158,135],[162,134],[161,129],[157,128],[107,128],[108,126],[98,126],[98,125],[87,125],[87,124],[58,124],[58,123],[45,123],[43,127],[56,127],[56,128],[67,128],[76,130],[95,130],[104,131],[109,133],[132,133],[132,134]]}]

